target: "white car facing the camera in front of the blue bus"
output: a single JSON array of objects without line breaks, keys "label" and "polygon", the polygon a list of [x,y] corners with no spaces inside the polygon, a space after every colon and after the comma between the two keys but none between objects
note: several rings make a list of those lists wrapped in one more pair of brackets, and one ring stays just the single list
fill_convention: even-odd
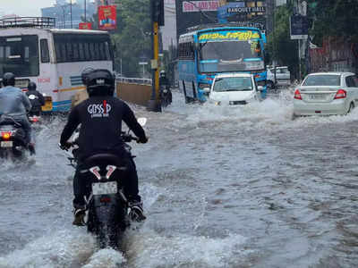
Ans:
[{"label": "white car facing the camera in front of the blue bus", "polygon": [[246,105],[261,101],[260,90],[251,73],[225,73],[215,76],[211,88],[204,88],[209,102],[216,105]]}]

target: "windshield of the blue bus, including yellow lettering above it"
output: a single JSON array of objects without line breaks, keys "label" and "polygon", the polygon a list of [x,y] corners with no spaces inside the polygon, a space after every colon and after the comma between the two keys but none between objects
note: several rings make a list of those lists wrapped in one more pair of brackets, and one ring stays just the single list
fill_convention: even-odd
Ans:
[{"label": "windshield of the blue bus, including yellow lettering above it", "polygon": [[200,72],[260,71],[264,69],[257,31],[219,31],[199,38]]}]

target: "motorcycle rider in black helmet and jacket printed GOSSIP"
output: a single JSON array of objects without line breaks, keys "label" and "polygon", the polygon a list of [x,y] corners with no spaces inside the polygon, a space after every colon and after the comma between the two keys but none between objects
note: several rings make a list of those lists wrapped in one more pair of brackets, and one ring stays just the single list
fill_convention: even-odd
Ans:
[{"label": "motorcycle rider in black helmet and jacket printed GOSSIP", "polygon": [[86,185],[80,179],[81,162],[90,155],[112,153],[121,156],[127,165],[127,179],[124,182],[124,194],[129,200],[131,209],[139,220],[144,220],[141,196],[139,196],[138,176],[132,156],[124,148],[124,141],[120,137],[122,121],[139,138],[138,142],[146,143],[145,132],[136,120],[131,108],[124,101],[114,95],[115,78],[110,71],[87,71],[82,77],[87,86],[89,98],[72,108],[67,124],[61,135],[62,148],[70,147],[67,142],[72,133],[81,124],[79,145],[79,164],[73,178],[73,206],[75,220],[73,224],[83,222],[85,200],[88,195]]}]

